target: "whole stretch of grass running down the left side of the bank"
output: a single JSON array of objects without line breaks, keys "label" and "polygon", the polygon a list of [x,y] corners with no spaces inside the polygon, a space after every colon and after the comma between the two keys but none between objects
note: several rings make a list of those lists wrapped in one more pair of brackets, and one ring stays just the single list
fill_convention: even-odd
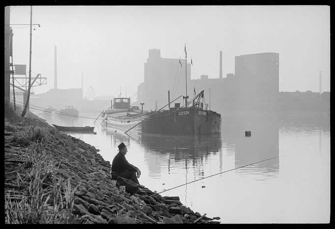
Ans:
[{"label": "whole stretch of grass running down the left side of the bank", "polygon": [[[17,184],[28,186],[23,192],[6,190],[6,224],[67,224],[73,219],[74,192],[70,180],[57,177],[57,162],[45,149],[52,130],[38,125],[20,128],[5,118],[5,132],[13,132],[14,145],[28,147],[19,165]],[[23,173],[23,172],[24,173]]]}]

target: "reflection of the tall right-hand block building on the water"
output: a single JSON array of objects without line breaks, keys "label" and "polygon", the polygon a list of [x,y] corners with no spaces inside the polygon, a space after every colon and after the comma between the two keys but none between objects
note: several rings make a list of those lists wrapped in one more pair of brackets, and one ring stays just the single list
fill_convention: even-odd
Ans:
[{"label": "reflection of the tall right-hand block building on the water", "polygon": [[[278,115],[236,114],[223,117],[223,141],[235,149],[235,168],[277,157],[236,170],[241,175],[257,174],[266,179],[279,174]],[[245,131],[251,131],[246,137]]]}]

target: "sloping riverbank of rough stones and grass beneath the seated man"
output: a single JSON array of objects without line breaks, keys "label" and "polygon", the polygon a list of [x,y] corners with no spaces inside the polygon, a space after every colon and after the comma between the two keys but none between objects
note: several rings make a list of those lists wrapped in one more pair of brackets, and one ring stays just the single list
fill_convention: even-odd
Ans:
[{"label": "sloping riverbank of rough stones and grass beneath the seated man", "polygon": [[7,112],[4,135],[6,223],[219,223],[179,197],[153,195],[147,188],[134,195],[122,191],[98,149],[31,113],[22,118]]}]

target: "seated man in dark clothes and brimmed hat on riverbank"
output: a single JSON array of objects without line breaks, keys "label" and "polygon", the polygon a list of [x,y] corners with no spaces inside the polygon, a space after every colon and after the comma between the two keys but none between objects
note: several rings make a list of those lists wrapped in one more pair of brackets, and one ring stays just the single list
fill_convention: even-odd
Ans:
[{"label": "seated man in dark clothes and brimmed hat on riverbank", "polygon": [[117,147],[119,148],[119,152],[115,155],[111,166],[112,179],[116,180],[117,176],[121,176],[140,184],[138,180],[141,174],[139,168],[130,164],[126,159],[125,155],[128,152],[127,146],[121,143]]}]

